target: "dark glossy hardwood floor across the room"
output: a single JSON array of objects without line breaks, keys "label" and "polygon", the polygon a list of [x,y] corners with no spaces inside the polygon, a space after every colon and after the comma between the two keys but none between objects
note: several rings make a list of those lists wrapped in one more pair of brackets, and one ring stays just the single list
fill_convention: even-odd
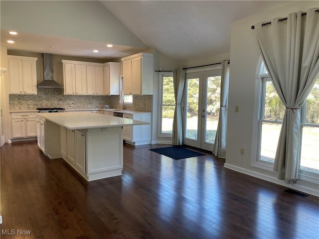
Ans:
[{"label": "dark glossy hardwood floor across the room", "polygon": [[317,197],[225,169],[211,154],[148,150],[162,146],[125,145],[122,176],[85,183],[36,143],[4,145],[1,239],[319,238]]}]

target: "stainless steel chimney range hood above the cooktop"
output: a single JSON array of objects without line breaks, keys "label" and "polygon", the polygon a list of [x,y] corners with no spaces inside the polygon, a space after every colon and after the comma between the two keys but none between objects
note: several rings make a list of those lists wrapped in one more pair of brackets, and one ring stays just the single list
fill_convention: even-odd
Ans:
[{"label": "stainless steel chimney range hood above the cooktop", "polygon": [[43,53],[43,81],[38,88],[63,88],[53,80],[53,54]]}]

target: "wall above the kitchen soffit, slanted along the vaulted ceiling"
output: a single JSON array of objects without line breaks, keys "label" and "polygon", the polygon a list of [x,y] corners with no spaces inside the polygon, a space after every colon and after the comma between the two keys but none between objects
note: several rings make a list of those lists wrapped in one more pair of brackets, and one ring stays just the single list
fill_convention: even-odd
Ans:
[{"label": "wall above the kitchen soffit, slanted along the vaulted ceiling", "polygon": [[100,1],[0,1],[1,29],[146,48]]}]

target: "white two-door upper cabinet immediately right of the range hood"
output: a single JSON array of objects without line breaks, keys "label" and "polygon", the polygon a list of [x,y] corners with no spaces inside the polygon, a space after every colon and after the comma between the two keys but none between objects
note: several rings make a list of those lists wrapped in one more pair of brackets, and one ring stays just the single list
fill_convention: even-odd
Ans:
[{"label": "white two-door upper cabinet immediately right of the range hood", "polygon": [[86,65],[73,61],[62,60],[64,94],[65,95],[86,95],[87,74]]}]

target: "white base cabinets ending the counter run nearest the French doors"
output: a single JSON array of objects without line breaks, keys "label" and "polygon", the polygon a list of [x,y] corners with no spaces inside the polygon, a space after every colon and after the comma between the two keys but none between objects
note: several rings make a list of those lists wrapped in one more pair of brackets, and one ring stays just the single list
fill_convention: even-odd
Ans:
[{"label": "white base cabinets ending the counter run nearest the French doors", "polygon": [[123,114],[123,118],[149,122],[150,124],[123,126],[123,139],[133,145],[149,144],[151,142],[151,113]]}]

